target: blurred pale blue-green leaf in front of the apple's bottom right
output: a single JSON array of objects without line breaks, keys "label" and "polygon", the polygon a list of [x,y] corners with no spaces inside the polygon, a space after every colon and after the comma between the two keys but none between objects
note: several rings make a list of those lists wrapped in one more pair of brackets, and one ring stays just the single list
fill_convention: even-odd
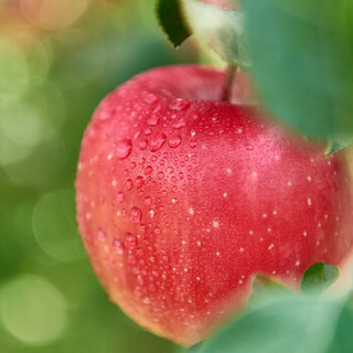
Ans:
[{"label": "blurred pale blue-green leaf in front of the apple's bottom right", "polygon": [[324,353],[342,301],[276,298],[247,310],[210,341],[202,353]]}]

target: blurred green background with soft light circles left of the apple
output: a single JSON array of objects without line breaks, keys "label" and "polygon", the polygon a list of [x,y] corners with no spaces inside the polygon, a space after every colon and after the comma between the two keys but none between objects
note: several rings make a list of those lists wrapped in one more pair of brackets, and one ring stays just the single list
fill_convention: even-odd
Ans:
[{"label": "blurred green background with soft light circles left of the apple", "polygon": [[169,46],[152,0],[0,0],[0,352],[175,352],[108,301],[73,184],[99,100],[196,50]]}]

